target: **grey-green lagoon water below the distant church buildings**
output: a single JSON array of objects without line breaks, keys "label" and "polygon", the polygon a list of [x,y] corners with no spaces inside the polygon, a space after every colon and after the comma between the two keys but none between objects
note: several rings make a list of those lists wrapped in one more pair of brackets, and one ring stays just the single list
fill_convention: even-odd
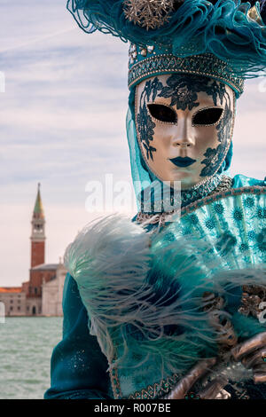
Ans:
[{"label": "grey-green lagoon water below the distant church buildings", "polygon": [[39,399],[50,387],[50,360],[61,340],[59,317],[0,322],[0,399]]}]

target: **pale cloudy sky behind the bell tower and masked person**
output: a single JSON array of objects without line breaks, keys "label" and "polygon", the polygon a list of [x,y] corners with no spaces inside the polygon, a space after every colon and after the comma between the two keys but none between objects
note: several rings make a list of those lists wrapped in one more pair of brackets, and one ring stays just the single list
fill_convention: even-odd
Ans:
[{"label": "pale cloudy sky behind the bell tower and masked person", "polygon": [[[66,1],[2,0],[0,16],[0,286],[28,279],[37,183],[46,216],[46,262],[58,262],[91,215],[90,180],[129,180],[128,45],[87,35]],[[265,176],[266,83],[238,103],[231,174]]]}]

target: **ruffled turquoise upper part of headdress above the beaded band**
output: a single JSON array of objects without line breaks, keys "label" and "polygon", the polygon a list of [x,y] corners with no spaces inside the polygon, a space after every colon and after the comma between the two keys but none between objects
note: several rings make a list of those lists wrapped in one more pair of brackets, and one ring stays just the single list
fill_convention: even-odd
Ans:
[{"label": "ruffled turquoise upper part of headdress above the beaded band", "polygon": [[259,76],[266,68],[266,27],[259,7],[257,19],[251,19],[248,2],[184,0],[167,24],[152,30],[126,19],[123,0],[68,0],[67,9],[87,33],[98,29],[143,47],[158,45],[161,53],[177,57],[212,53],[229,61],[228,70],[240,78]]}]

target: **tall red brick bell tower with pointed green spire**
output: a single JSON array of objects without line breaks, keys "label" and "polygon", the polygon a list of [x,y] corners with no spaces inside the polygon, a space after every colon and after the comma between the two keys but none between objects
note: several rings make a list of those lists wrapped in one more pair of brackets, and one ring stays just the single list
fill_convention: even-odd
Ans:
[{"label": "tall red brick bell tower with pointed green spire", "polygon": [[44,212],[43,203],[40,193],[40,183],[38,184],[38,192],[35,201],[35,209],[32,216],[32,232],[31,232],[31,268],[36,265],[44,264],[45,256],[45,234],[44,234]]}]

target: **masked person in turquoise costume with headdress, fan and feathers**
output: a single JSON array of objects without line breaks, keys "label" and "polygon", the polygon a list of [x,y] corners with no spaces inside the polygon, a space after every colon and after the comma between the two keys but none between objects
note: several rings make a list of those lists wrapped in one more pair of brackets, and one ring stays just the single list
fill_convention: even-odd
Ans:
[{"label": "masked person in turquoise costume with headdress, fan and feathers", "polygon": [[139,211],[66,249],[46,398],[266,398],[266,183],[228,170],[236,100],[266,67],[264,3],[68,2],[85,31],[130,41]]}]

